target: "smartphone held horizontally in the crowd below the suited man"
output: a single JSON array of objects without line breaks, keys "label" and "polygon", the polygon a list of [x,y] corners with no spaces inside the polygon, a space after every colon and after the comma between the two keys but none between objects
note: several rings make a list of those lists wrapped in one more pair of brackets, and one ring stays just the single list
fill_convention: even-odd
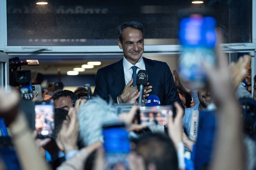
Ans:
[{"label": "smartphone held horizontally in the crowd below the suited man", "polygon": [[137,116],[138,123],[146,126],[152,124],[165,125],[168,121],[168,115],[171,113],[173,113],[172,106],[140,107]]}]

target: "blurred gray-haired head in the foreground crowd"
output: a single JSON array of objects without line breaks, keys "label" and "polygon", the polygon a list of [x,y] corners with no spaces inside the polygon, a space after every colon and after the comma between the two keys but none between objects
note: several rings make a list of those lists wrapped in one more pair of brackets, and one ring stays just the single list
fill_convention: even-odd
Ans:
[{"label": "blurred gray-haired head in the foreground crowd", "polygon": [[117,109],[100,97],[94,97],[80,106],[77,115],[79,134],[84,146],[102,141],[102,124],[118,121]]}]

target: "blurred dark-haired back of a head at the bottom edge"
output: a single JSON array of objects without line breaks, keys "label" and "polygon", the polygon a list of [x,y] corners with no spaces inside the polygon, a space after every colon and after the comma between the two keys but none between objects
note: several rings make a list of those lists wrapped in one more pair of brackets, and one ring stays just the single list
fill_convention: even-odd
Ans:
[{"label": "blurred dark-haired back of a head at the bottom edge", "polygon": [[176,150],[170,138],[162,134],[147,134],[143,136],[136,147],[137,154],[145,161],[145,166],[153,163],[158,170],[178,169]]}]

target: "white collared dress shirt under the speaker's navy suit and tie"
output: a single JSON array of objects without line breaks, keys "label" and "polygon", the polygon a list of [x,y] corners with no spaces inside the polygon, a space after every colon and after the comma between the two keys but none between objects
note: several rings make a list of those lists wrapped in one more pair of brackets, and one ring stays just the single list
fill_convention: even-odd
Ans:
[{"label": "white collared dress shirt under the speaker's navy suit and tie", "polygon": [[[123,66],[124,66],[124,73],[125,73],[125,85],[131,81],[132,77],[132,64],[126,60],[126,58],[123,58]],[[143,61],[143,57],[140,57],[140,60],[135,64],[137,66],[136,74],[138,73],[139,70],[146,70],[145,63]]]}]

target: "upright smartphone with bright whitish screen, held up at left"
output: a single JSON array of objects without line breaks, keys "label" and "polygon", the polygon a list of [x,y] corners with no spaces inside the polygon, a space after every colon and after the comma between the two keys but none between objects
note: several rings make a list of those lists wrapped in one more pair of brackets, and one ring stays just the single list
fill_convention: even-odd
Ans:
[{"label": "upright smartphone with bright whitish screen, held up at left", "polygon": [[54,106],[51,102],[35,103],[35,130],[38,138],[52,138],[54,133]]}]

